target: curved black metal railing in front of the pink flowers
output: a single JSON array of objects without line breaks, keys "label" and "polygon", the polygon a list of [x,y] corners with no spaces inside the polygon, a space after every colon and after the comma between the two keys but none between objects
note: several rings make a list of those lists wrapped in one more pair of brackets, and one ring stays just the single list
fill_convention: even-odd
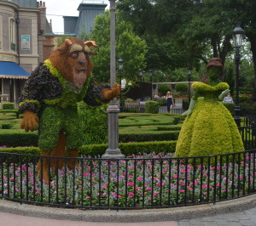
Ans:
[{"label": "curved black metal railing in front of the pink flowers", "polygon": [[[42,206],[137,209],[200,205],[252,195],[256,139],[252,127],[240,131],[245,147],[252,150],[226,155],[69,159],[0,153],[0,197]],[[38,161],[47,161],[51,167],[42,164],[40,170]],[[46,182],[43,172],[49,177]]]}]

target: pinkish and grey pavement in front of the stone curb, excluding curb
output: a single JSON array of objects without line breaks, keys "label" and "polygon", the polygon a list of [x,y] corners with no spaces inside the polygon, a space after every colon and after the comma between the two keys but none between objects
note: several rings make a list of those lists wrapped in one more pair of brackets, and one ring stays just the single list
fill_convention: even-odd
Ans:
[{"label": "pinkish and grey pavement in front of the stone curb, excluding curb", "polygon": [[228,214],[218,214],[206,218],[183,219],[180,221],[142,223],[102,223],[32,218],[0,212],[0,225],[6,226],[210,226],[210,225],[256,225],[256,207]]}]

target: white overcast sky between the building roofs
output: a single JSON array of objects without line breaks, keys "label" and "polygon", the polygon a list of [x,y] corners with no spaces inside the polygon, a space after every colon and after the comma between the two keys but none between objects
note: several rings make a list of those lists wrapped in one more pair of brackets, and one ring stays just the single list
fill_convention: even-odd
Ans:
[{"label": "white overcast sky between the building roofs", "polygon": [[[86,1],[86,0],[85,0]],[[92,0],[89,0],[90,2]],[[96,0],[100,1],[100,0]],[[102,0],[109,4],[108,0]],[[79,4],[83,0],[43,0],[46,7],[46,17],[52,20],[53,31],[55,33],[63,33],[63,15],[79,16]]]}]

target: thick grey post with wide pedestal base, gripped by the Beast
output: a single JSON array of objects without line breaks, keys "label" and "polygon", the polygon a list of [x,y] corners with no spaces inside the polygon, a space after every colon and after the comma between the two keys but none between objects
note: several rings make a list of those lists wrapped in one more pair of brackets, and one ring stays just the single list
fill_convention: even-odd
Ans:
[{"label": "thick grey post with wide pedestal base, gripped by the Beast", "polygon": [[[115,0],[110,2],[110,84],[116,81],[115,72]],[[119,150],[119,105],[116,98],[110,101],[108,109],[108,149],[103,158],[121,158],[124,157]]]}]

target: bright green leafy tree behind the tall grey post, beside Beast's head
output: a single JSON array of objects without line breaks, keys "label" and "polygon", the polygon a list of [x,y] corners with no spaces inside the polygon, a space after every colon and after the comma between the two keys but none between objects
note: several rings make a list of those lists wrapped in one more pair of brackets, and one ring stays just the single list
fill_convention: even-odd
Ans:
[{"label": "bright green leafy tree behind the tall grey post, beside Beast's head", "polygon": [[[94,77],[97,82],[108,82],[110,80],[110,14],[96,17],[95,28],[90,34],[90,40],[96,41],[99,45],[98,51],[92,57]],[[121,20],[119,12],[116,13],[116,56],[125,60],[123,76],[132,81],[138,80],[138,70],[144,68],[144,61],[147,53],[146,42],[135,35],[132,25]],[[117,76],[118,77],[118,76]]]}]

